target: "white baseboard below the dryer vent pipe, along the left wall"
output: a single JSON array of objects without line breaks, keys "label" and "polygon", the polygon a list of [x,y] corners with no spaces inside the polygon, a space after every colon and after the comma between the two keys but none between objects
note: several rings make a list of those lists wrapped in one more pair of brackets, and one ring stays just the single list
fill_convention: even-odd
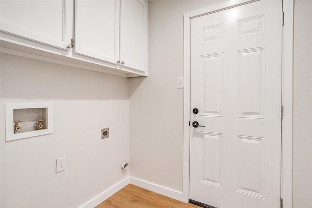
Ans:
[{"label": "white baseboard below the dryer vent pipe, along the left wall", "polygon": [[106,189],[102,193],[98,194],[98,196],[94,197],[90,201],[86,202],[85,204],[81,205],[79,208],[95,208],[100,203],[108,199],[110,196],[112,196],[114,193],[119,191],[121,188],[127,186],[129,184],[130,180],[129,177],[126,179],[123,179],[116,185]]}]

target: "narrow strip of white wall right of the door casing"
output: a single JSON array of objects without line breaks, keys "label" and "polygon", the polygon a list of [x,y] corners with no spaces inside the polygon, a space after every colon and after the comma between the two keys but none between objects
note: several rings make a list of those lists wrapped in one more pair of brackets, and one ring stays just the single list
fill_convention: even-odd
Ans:
[{"label": "narrow strip of white wall right of the door casing", "polygon": [[293,208],[312,208],[312,1],[295,0]]}]

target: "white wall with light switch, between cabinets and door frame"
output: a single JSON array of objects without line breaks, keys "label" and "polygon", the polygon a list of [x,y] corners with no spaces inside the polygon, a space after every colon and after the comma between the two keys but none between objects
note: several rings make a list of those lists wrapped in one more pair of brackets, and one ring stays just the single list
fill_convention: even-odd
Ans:
[{"label": "white wall with light switch, between cabinets and door frame", "polygon": [[149,2],[149,72],[131,78],[131,176],[182,191],[183,14],[221,0],[152,0]]}]

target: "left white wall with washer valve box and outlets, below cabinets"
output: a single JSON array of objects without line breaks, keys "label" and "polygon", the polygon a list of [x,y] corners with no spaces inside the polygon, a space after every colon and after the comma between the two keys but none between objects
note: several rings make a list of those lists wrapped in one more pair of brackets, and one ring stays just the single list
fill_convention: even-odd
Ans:
[{"label": "left white wall with washer valve box and outlets, below cabinets", "polygon": [[[8,54],[0,62],[0,207],[77,208],[129,176],[120,169],[129,159],[127,78]],[[4,104],[36,102],[53,103],[54,133],[5,142]],[[66,170],[55,173],[61,156]]]}]

